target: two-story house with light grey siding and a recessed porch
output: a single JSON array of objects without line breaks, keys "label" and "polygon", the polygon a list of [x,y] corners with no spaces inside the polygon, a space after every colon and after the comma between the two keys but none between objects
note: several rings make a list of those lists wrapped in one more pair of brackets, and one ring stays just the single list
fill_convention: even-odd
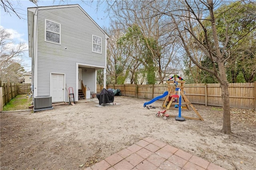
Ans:
[{"label": "two-story house with light grey siding and a recessed porch", "polygon": [[84,86],[96,92],[97,70],[106,73],[108,38],[78,4],[28,8],[34,97],[68,102],[69,93],[78,101]]}]

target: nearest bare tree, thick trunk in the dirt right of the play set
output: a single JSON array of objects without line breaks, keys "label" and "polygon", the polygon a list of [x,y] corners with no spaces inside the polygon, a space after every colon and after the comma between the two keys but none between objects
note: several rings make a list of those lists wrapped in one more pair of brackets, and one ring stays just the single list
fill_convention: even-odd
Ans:
[{"label": "nearest bare tree, thick trunk in the dirt right of the play set", "polygon": [[[173,12],[170,14],[174,25],[178,31],[178,35],[182,40],[183,47],[186,50],[186,53],[192,60],[192,62],[198,66],[200,69],[208,71],[212,75],[214,75],[218,81],[220,82],[220,87],[222,89],[222,101],[223,101],[223,127],[222,130],[224,133],[231,133],[231,123],[230,123],[230,102],[229,102],[229,92],[228,92],[228,80],[226,77],[226,71],[224,67],[224,54],[226,51],[221,51],[220,44],[217,35],[217,28],[215,24],[215,15],[214,15],[214,3],[211,0],[207,2],[198,1],[198,2],[188,2],[187,0],[180,3],[179,13]],[[184,14],[184,16],[180,15],[180,12]],[[211,22],[211,30],[212,36],[214,40],[214,47],[211,46],[211,40],[208,39],[208,34],[206,26],[202,23],[203,14],[210,15]],[[196,32],[194,32],[194,27],[196,25],[200,26],[200,30],[203,31],[205,36],[205,42],[198,40],[196,36]],[[227,28],[228,29],[228,28]],[[194,56],[189,50],[188,43],[184,39],[184,34],[190,36],[194,39],[194,43],[200,47],[200,49],[204,52],[206,56],[210,58],[212,62],[213,69],[209,69],[207,67],[203,67],[198,61],[195,60]],[[228,36],[226,37],[228,43]],[[226,48],[224,45],[223,49]]]}]

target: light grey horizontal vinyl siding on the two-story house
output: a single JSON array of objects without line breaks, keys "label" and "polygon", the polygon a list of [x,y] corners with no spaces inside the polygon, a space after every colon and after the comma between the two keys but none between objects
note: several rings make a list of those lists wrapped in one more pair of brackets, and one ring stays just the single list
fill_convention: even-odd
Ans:
[{"label": "light grey horizontal vinyl siding on the two-story house", "polygon": [[[61,25],[61,44],[45,41],[45,20]],[[92,52],[92,35],[101,38],[101,53]],[[50,73],[65,73],[67,87],[73,87],[75,92],[76,63],[105,67],[105,36],[79,7],[39,9],[38,96],[50,95]]]}]

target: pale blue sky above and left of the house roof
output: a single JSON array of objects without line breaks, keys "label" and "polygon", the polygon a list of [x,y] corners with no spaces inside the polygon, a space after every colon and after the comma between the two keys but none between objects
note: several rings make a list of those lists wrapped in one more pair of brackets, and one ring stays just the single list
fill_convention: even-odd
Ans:
[{"label": "pale blue sky above and left of the house roof", "polygon": [[[36,7],[36,4],[29,0],[9,0],[14,4],[16,12],[22,17],[18,18],[16,14],[7,14],[4,9],[1,8],[0,12],[0,26],[6,29],[12,34],[12,40],[15,44],[20,42],[26,43],[28,46],[28,20],[27,20],[27,8]],[[100,4],[97,8],[97,0],[38,0],[38,6],[53,6],[53,5],[66,5],[66,4],[79,4],[84,11],[100,26],[109,25],[109,17],[106,12],[106,4]],[[14,46],[15,46],[14,44]],[[22,57],[21,65],[26,71],[31,71],[31,58],[28,57],[28,51],[24,53]]]}]

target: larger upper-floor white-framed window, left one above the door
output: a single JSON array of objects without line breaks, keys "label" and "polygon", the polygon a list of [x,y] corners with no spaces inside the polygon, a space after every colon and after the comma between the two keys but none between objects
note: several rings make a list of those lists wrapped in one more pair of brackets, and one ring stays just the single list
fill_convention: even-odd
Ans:
[{"label": "larger upper-floor white-framed window, left one above the door", "polygon": [[45,20],[45,40],[60,43],[60,24]]}]

